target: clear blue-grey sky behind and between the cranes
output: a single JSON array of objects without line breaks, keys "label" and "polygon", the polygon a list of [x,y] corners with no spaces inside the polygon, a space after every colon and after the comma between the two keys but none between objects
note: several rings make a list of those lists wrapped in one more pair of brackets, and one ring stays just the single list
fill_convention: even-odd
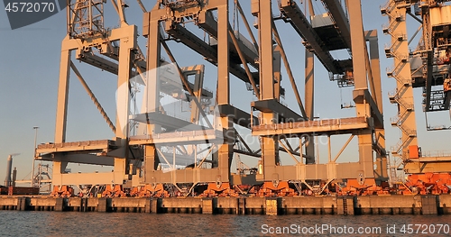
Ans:
[{"label": "clear blue-grey sky behind and between the cranes", "polygon": [[[233,1],[232,1],[233,2]],[[273,1],[276,2],[276,1]],[[379,33],[379,50],[381,58],[382,75],[382,96],[383,114],[386,129],[386,147],[396,145],[400,137],[400,131],[391,127],[390,118],[396,116],[396,105],[391,105],[388,99],[388,92],[395,88],[393,78],[386,77],[386,68],[392,66],[392,59],[386,59],[383,53],[384,45],[390,42],[390,36],[382,34],[382,24],[388,22],[388,18],[382,16],[380,6],[386,1],[363,0],[364,30],[376,29]],[[155,0],[143,1],[148,10],[152,8]],[[127,1],[130,5],[126,9],[127,21],[129,24],[136,24],[138,32],[142,32],[143,12],[135,1]],[[250,1],[241,1],[244,11],[250,23],[254,18],[250,14]],[[314,8],[320,12],[322,5],[320,1],[314,1]],[[119,22],[115,15],[111,2],[105,5],[106,26],[117,27]],[[233,14],[231,5],[230,14]],[[232,19],[232,17],[231,17]],[[408,19],[408,22],[414,22]],[[243,23],[237,23],[245,33]],[[304,47],[301,44],[299,35],[294,32],[288,23],[281,21],[276,23],[281,34],[282,43],[287,51],[290,66],[296,78],[301,97],[304,97]],[[237,26],[236,26],[237,27]],[[418,24],[409,24],[408,33],[412,35],[418,28]],[[254,30],[254,34],[257,32]],[[11,30],[5,10],[0,9],[0,179],[5,178],[6,159],[8,154],[20,153],[14,157],[14,167],[18,169],[18,179],[30,178],[32,169],[32,154],[34,130],[33,126],[39,126],[38,143],[54,140],[55,116],[57,103],[57,88],[60,71],[60,44],[66,35],[66,12],[62,11],[39,23],[25,26],[20,29]],[[139,44],[145,51],[145,39],[139,36]],[[193,64],[206,65],[206,87],[216,88],[216,68],[210,65],[201,56],[189,50],[184,45],[174,41],[168,42],[170,49],[178,59],[180,66],[190,66]],[[412,48],[415,45],[411,45]],[[333,54],[334,55],[334,54]],[[334,55],[337,56],[337,55]],[[164,56],[163,56],[164,57]],[[166,57],[166,59],[168,59]],[[87,80],[87,84],[97,96],[100,104],[104,106],[106,113],[111,118],[115,117],[115,87],[116,77],[100,69],[92,68],[74,59],[74,63],[81,74]],[[316,60],[316,96],[315,114],[320,118],[352,117],[355,115],[353,109],[342,110],[341,104],[349,104],[352,100],[351,88],[339,89],[336,82],[330,82],[327,71],[318,60]],[[283,67],[283,66],[282,66]],[[290,89],[284,68],[282,68],[282,86],[287,90],[284,103],[299,112],[297,103]],[[232,104],[246,111],[249,110],[251,101],[255,97],[248,92],[244,83],[232,77],[231,83],[233,92],[231,96]],[[417,111],[417,131],[419,134],[419,146],[423,151],[428,150],[448,150],[450,132],[426,132],[425,116],[421,108],[421,89],[415,90],[415,110]],[[449,124],[447,112],[434,114],[432,122],[442,125]],[[429,118],[431,122],[431,118]],[[89,96],[81,87],[77,78],[71,74],[69,84],[69,115],[67,141],[87,141],[111,139],[113,133],[104,122],[102,116],[98,114],[97,108],[91,102]],[[345,143],[346,136],[334,136],[333,154],[340,150]],[[353,148],[354,146],[354,148]],[[320,160],[324,160],[327,155],[327,148],[320,146]],[[342,161],[356,160],[356,139],[351,142],[351,147],[345,150]],[[242,159],[244,160],[244,159]],[[340,158],[341,160],[341,158]],[[256,160],[244,160],[248,164],[256,164]],[[93,169],[105,169],[98,167],[87,167],[71,165],[74,170],[89,171]],[[108,168],[111,169],[111,168]],[[235,168],[232,168],[233,170]],[[3,184],[3,179],[1,180]]]}]

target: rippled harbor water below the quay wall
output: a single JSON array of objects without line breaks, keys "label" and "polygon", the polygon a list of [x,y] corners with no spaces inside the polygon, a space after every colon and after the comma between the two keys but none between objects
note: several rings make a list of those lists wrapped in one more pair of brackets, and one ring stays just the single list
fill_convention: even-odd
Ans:
[{"label": "rippled harbor water below the quay wall", "polygon": [[0,212],[0,236],[449,236],[450,215]]}]

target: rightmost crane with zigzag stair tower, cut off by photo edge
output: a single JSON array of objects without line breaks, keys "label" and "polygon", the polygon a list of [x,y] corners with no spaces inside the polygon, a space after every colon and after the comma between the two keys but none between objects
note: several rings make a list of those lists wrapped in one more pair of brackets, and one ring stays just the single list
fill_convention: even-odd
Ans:
[{"label": "rightmost crane with zigzag stair tower, cut off by photo edge", "polygon": [[[382,31],[391,36],[391,45],[385,54],[392,58],[394,66],[387,75],[396,80],[396,89],[389,93],[390,101],[398,105],[398,115],[391,124],[400,129],[402,135],[391,153],[400,158],[395,167],[403,167],[409,175],[406,193],[448,193],[451,184],[451,154],[422,151],[417,141],[414,88],[423,89],[423,111],[428,123],[428,114],[446,111],[444,103],[444,81],[449,75],[451,21],[446,16],[451,9],[448,1],[395,1],[390,0],[381,8],[389,23]],[[409,17],[410,16],[410,17]],[[419,23],[419,28],[408,38],[408,19]],[[409,44],[420,35],[415,50]],[[446,114],[446,117],[448,114]],[[446,127],[431,127],[428,131],[446,130]]]}]

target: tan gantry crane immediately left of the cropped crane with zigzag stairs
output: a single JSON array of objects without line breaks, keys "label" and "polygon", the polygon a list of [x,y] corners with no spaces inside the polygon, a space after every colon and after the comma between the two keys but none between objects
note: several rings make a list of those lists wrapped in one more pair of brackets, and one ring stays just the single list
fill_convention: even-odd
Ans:
[{"label": "tan gantry crane immediately left of the cropped crane with zigzag stairs", "polygon": [[[272,190],[277,190],[282,180],[296,184],[298,187],[306,186],[314,192],[318,191],[318,189],[313,190],[312,187],[316,183],[321,184],[319,192],[325,190],[331,183],[345,183],[342,191],[354,192],[356,189],[376,187],[376,184],[381,186],[387,180],[377,32],[375,30],[364,32],[360,1],[354,1],[353,5],[346,5],[345,8],[339,1],[322,2],[327,14],[312,14],[311,23],[296,1],[278,1],[278,10],[281,13],[278,18],[272,17],[271,1],[252,2],[253,14],[258,17],[261,50],[261,94],[259,100],[252,103],[253,109],[261,112],[262,118],[259,125],[253,126],[253,135],[263,138],[262,169],[259,169],[257,173],[257,180],[265,181],[266,187]],[[346,10],[349,18],[345,14]],[[311,12],[313,11],[310,10]],[[306,49],[318,57],[329,72],[331,80],[338,81],[339,87],[345,84],[354,87],[355,117],[317,121],[311,117],[313,108],[311,104],[306,105],[308,115],[304,112],[302,103],[299,103],[301,114],[287,113],[283,105],[276,103],[279,101],[279,96],[270,86],[272,75],[268,69],[272,68],[273,63],[275,64],[275,61],[272,62],[271,53],[272,35],[281,49],[280,53],[287,68],[287,74],[291,81],[294,79],[291,77],[290,67],[287,67],[290,64],[281,45],[277,27],[273,23],[275,20],[290,23],[303,40]],[[366,41],[370,42],[369,49],[366,47]],[[331,51],[343,49],[350,52],[352,59],[338,60],[331,56]],[[267,55],[264,56],[264,54]],[[266,70],[265,73],[262,73],[263,68]],[[310,72],[311,68],[312,66],[308,65],[306,71]],[[313,78],[308,79],[313,80]],[[306,101],[309,103],[312,103],[310,96],[313,96],[313,92],[311,86],[306,88]],[[289,146],[287,141],[284,143],[280,140],[282,137],[303,139],[315,137],[318,134],[326,134],[328,138],[329,152],[326,164],[319,164],[306,153],[305,162],[302,158],[297,159],[290,154],[296,164],[280,165],[279,154],[274,151],[278,150],[279,146]],[[335,134],[350,134],[350,137],[335,158],[332,158],[330,137]],[[358,138],[359,161],[336,162],[354,136]],[[376,154],[375,160],[374,154]],[[382,190],[369,188],[365,191],[372,193]]]}]

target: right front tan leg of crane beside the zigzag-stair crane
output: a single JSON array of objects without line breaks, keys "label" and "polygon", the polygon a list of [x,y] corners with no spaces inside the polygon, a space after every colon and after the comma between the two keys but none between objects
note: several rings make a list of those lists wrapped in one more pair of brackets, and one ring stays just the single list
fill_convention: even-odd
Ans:
[{"label": "right front tan leg of crane beside the zigzag-stair crane", "polygon": [[[349,22],[351,30],[351,44],[353,49],[353,68],[354,68],[354,101],[356,105],[357,116],[370,116],[370,106],[365,101],[364,91],[368,89],[368,80],[366,75],[365,51],[366,42],[364,40],[364,23],[362,19],[361,0],[355,0],[348,4]],[[359,143],[359,162],[362,175],[365,178],[373,178],[373,137],[372,131],[365,130],[356,133]],[[358,176],[356,176],[357,178]]]}]

